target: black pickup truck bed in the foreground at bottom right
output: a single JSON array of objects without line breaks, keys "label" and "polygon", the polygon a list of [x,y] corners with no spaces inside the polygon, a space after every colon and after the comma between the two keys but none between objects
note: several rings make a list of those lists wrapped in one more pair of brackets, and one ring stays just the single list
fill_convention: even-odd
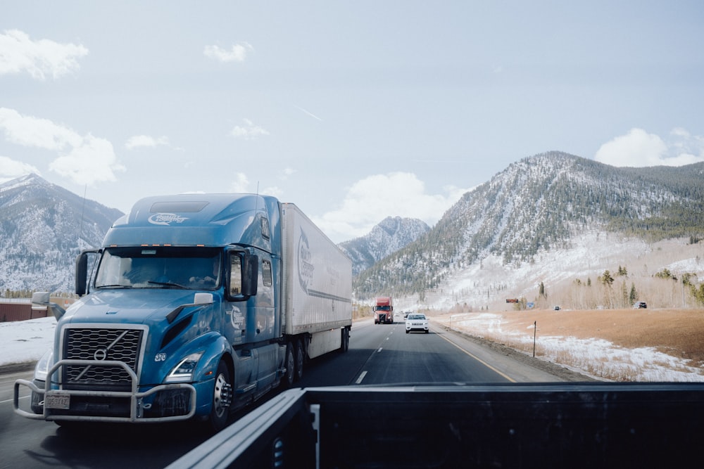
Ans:
[{"label": "black pickup truck bed in the foreground at bottom right", "polygon": [[686,467],[702,383],[289,390],[169,468]]}]

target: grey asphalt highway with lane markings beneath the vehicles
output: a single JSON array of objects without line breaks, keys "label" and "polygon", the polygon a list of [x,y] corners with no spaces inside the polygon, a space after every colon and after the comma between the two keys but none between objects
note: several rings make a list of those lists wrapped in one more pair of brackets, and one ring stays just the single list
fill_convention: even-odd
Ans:
[{"label": "grey asphalt highway with lane markings beneath the vehicles", "polygon": [[[31,374],[0,375],[0,468],[161,468],[208,437],[187,423],[95,425],[77,432],[20,417],[13,412],[13,383],[18,378],[30,379]],[[298,385],[558,380],[555,375],[434,327],[432,319],[429,334],[406,334],[402,318],[397,317],[396,323],[388,325],[375,325],[371,320],[356,322],[348,352],[308,362]],[[23,404],[27,404],[26,397]],[[259,405],[266,405],[266,401]]]}]

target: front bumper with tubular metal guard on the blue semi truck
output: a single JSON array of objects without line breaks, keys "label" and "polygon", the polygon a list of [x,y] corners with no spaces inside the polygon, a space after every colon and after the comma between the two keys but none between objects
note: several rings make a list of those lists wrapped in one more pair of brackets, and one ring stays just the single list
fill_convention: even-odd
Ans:
[{"label": "front bumper with tubular metal guard on the blue semi truck", "polygon": [[[51,377],[62,366],[90,366],[94,360],[61,360],[51,367],[44,389],[27,380],[16,380],[15,413],[34,420],[81,420],[94,422],[167,422],[187,420],[196,413],[196,388],[189,383],[157,385],[139,391],[139,379],[123,361],[101,361],[101,366],[119,366],[130,375],[130,390],[52,389]],[[32,407],[42,413],[20,409],[20,386],[32,391]],[[156,408],[155,408],[155,403]]]}]

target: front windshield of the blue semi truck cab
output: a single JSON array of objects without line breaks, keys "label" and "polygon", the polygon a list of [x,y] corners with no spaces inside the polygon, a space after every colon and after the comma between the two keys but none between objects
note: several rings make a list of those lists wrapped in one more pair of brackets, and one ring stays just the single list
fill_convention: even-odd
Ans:
[{"label": "front windshield of the blue semi truck cab", "polygon": [[95,288],[215,290],[221,266],[218,248],[107,248]]}]

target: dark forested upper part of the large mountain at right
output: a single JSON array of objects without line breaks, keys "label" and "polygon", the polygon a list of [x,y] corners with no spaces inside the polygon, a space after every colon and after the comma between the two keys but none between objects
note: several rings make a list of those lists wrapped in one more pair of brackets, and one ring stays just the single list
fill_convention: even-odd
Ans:
[{"label": "dark forested upper part of the large mountain at right", "polygon": [[[523,293],[517,272],[530,271],[550,253],[562,252],[563,262],[574,263],[565,269],[586,273],[603,264],[590,263],[589,252],[581,259],[567,255],[584,243],[596,239],[598,248],[612,252],[603,253],[614,263],[607,268],[616,269],[622,242],[652,245],[672,238],[704,238],[704,163],[616,168],[543,153],[466,193],[425,236],[360,273],[354,290],[360,299],[383,292],[422,300],[444,291],[460,301],[464,289],[465,297],[488,302],[509,285],[513,290],[505,294]],[[482,269],[489,265],[501,273],[486,283]],[[473,274],[463,276],[468,272]],[[528,275],[524,285],[534,288],[546,273],[520,275]]]}]

